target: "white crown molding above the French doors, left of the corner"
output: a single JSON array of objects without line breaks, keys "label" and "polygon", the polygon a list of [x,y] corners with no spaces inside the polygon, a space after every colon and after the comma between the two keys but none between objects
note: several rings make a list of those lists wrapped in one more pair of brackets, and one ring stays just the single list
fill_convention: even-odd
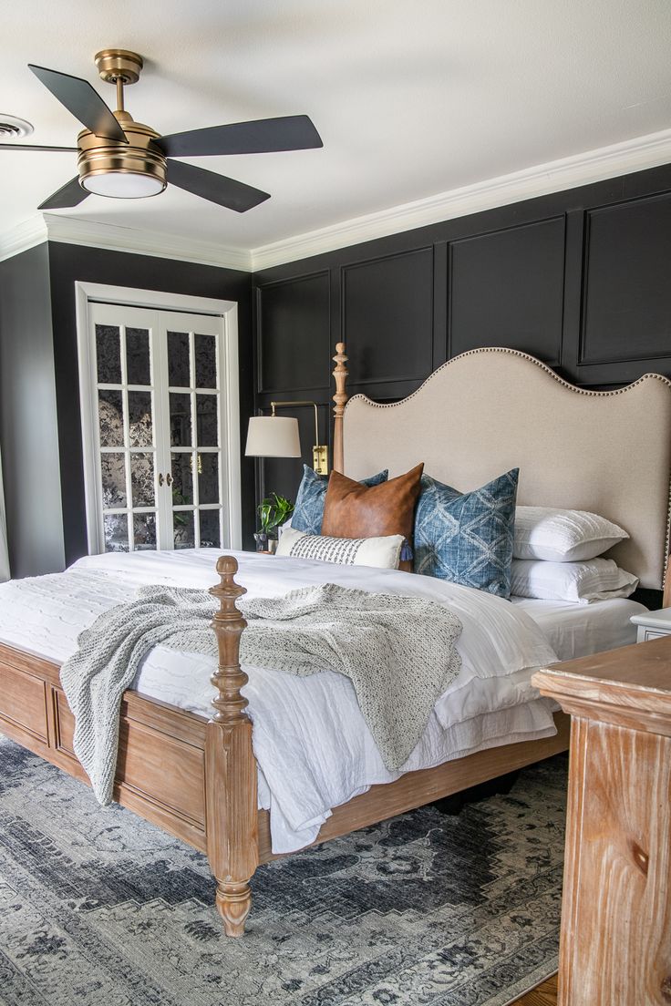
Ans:
[{"label": "white crown molding above the French doors, left of the corner", "polygon": [[130,252],[158,259],[176,259],[180,262],[235,269],[244,273],[251,271],[251,257],[247,250],[223,247],[213,241],[203,241],[178,234],[138,230],[113,223],[97,223],[94,220],[64,216],[60,213],[38,213],[5,234],[1,234],[0,261],[45,240],[82,244],[111,252]]}]

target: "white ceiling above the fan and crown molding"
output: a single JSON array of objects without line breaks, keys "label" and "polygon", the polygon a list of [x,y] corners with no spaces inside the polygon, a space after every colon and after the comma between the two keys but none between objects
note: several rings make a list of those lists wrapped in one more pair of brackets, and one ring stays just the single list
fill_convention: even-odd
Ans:
[{"label": "white ceiling above the fan and crown molding", "polygon": [[[25,142],[80,128],[26,63],[114,107],[109,46],[145,58],[127,107],[160,133],[307,113],[323,150],[192,159],[272,193],[247,213],[175,187],[61,211],[238,250],[671,128],[669,0],[5,0],[2,40],[0,113],[34,125]],[[0,233],[75,173],[74,154],[0,151]]]}]

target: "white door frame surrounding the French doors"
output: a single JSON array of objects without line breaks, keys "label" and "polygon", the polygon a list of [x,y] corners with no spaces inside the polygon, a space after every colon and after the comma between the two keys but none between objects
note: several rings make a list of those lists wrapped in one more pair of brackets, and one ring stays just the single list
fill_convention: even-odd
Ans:
[{"label": "white door frame surrounding the French doors", "polygon": [[[95,424],[98,423],[96,389],[91,378],[90,303],[120,304],[132,308],[182,311],[185,314],[206,314],[223,321],[224,384],[221,404],[225,409],[226,442],[222,444],[228,459],[228,478],[222,503],[224,540],[222,547],[242,547],[241,482],[240,482],[240,414],[237,369],[237,303],[187,294],[167,294],[158,290],[135,290],[130,287],[110,287],[101,283],[74,282],[76,305],[76,342],[79,366],[79,401],[81,412],[81,448],[83,484],[87,505],[87,540],[89,554],[101,551],[98,534],[98,500]],[[227,539],[227,540],[226,540]]]}]

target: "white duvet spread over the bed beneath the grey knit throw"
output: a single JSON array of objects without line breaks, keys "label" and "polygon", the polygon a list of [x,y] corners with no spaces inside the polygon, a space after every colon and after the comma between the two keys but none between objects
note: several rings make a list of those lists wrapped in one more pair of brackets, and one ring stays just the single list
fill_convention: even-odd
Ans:
[{"label": "white duvet spread over the bed beneath the grey knit throw", "polygon": [[[64,573],[0,584],[0,641],[57,662],[103,611],[132,599],[138,586],[211,586],[218,552],[195,549],[92,555]],[[548,704],[531,687],[531,670],[557,658],[523,611],[488,594],[393,569],[340,566],[314,559],[233,553],[237,580],[250,595],[277,596],[334,582],[428,598],[463,624],[462,670],[437,702],[420,743],[399,773],[382,763],[349,679],[336,673],[294,677],[245,667],[255,724],[260,807],[271,811],[273,850],[312,842],[330,815],[376,783],[474,750],[554,733]],[[156,647],[135,681],[145,695],[207,716],[210,658]],[[411,668],[410,668],[411,672]]]}]

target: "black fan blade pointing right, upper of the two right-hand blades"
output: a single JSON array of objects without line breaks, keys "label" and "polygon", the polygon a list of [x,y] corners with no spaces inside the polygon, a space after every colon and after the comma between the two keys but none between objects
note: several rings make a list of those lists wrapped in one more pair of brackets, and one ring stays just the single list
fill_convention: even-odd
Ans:
[{"label": "black fan blade pointing right, upper of the two right-hand blades", "polygon": [[154,143],[166,157],[206,157],[208,154],[270,154],[281,150],[323,147],[322,138],[308,116],[259,119],[172,133]]}]

